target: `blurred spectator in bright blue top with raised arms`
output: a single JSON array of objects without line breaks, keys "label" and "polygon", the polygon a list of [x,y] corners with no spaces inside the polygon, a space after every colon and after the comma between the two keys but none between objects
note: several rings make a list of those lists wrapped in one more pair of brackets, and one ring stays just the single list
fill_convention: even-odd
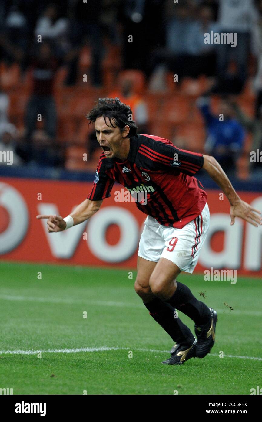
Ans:
[{"label": "blurred spectator in bright blue top with raised arms", "polygon": [[206,124],[206,153],[212,155],[227,174],[234,174],[236,162],[243,150],[245,133],[235,119],[230,101],[221,99],[219,117],[212,114],[209,97],[198,98],[197,105]]}]

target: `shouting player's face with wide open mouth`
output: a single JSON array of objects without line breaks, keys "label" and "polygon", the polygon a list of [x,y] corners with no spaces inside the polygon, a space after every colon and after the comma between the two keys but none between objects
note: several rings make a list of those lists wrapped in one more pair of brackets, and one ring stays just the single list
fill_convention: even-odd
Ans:
[{"label": "shouting player's face with wide open mouth", "polygon": [[128,129],[124,129],[121,132],[119,127],[111,127],[108,117],[106,117],[106,122],[109,126],[105,123],[103,116],[96,119],[95,131],[97,141],[108,158],[118,157],[123,136],[125,137],[128,134],[129,127],[126,126]]}]

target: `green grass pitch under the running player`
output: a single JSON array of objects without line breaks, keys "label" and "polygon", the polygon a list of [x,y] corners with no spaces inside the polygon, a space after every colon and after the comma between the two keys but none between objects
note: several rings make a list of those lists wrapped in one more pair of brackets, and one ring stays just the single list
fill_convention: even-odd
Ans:
[{"label": "green grass pitch under the running player", "polygon": [[[217,309],[218,324],[211,354],[174,366],[161,364],[174,343],[134,292],[135,276],[113,268],[1,262],[0,388],[13,394],[249,395],[261,386],[261,280],[239,277],[230,284],[181,274],[179,281],[199,299],[206,292],[201,300]],[[179,317],[193,330],[189,318]],[[17,350],[28,354],[4,353]]]}]

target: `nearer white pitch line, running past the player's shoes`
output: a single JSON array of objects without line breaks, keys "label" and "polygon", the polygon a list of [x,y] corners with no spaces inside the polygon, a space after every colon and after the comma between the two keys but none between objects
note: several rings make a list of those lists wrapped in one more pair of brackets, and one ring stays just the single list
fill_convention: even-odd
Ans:
[{"label": "nearer white pitch line, running past the player's shoes", "polygon": [[[152,353],[168,353],[168,350],[156,349],[141,349],[132,348],[138,352],[152,352]],[[38,354],[38,353],[79,353],[79,352],[107,352],[111,350],[130,350],[130,347],[80,347],[79,349],[48,349],[48,350],[0,350],[0,354]],[[219,354],[210,353],[208,356],[219,357]],[[262,360],[262,357],[252,356],[235,356],[232,354],[224,354],[224,357],[233,357],[238,359]]]}]

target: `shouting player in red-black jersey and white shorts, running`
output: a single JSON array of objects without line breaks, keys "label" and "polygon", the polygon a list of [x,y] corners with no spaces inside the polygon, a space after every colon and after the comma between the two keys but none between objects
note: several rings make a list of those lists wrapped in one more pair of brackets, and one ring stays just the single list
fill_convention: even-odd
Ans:
[{"label": "shouting player in red-black jersey and white shorts, running", "polygon": [[[223,190],[230,202],[231,225],[240,217],[258,227],[261,213],[241,200],[213,157],[176,148],[158,136],[137,135],[130,116],[130,107],[119,98],[99,99],[87,116],[89,123],[95,123],[102,148],[91,192],[64,219],[37,218],[48,219],[48,232],[59,232],[98,211],[115,181],[129,190],[147,192],[147,201],[136,201],[147,218],[139,242],[135,290],[152,318],[176,342],[163,363],[181,365],[210,352],[217,323],[217,312],[176,280],[181,271],[194,271],[209,228],[207,195],[195,173],[205,169]],[[194,321],[196,338],[176,309]]]}]

